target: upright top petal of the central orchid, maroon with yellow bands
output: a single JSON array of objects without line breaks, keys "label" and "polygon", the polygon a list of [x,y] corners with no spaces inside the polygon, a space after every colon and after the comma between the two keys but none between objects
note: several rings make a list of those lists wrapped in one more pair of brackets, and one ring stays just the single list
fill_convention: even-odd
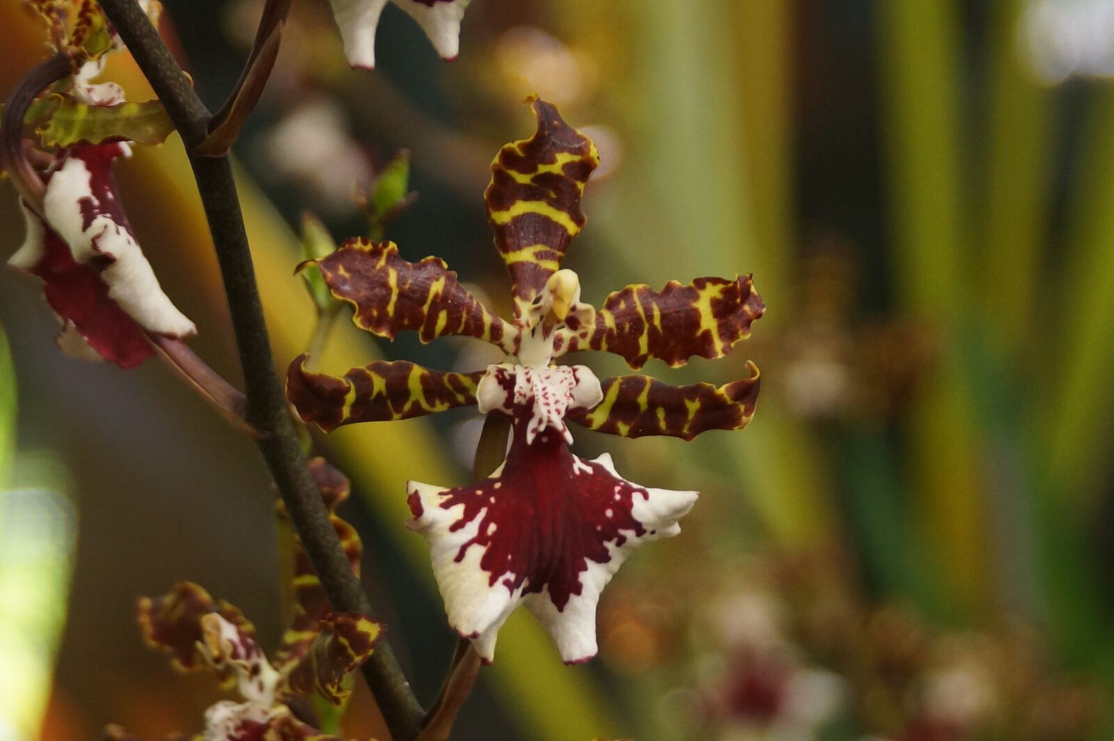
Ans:
[{"label": "upright top petal of the central orchid, maroon with yellow bands", "polygon": [[499,150],[483,193],[495,246],[514,283],[516,316],[557,272],[584,227],[580,196],[599,165],[596,145],[566,124],[556,106],[534,99],[534,113],[537,131]]}]

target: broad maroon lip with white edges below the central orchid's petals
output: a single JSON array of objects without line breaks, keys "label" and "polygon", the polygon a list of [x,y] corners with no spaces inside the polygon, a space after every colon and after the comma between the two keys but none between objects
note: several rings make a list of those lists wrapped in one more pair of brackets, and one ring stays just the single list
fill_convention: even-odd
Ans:
[{"label": "broad maroon lip with white edges below the central orchid's petals", "polygon": [[516,422],[505,465],[479,484],[411,481],[409,526],[430,543],[449,623],[485,661],[525,601],[561,657],[582,662],[596,653],[600,591],[635,547],[677,534],[697,494],[627,481],[608,456],[578,458],[557,435],[528,445],[526,425]]}]

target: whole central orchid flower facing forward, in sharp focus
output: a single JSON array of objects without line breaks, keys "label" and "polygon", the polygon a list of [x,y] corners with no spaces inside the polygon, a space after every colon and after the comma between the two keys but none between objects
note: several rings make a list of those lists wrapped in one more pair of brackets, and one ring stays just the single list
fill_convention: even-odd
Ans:
[{"label": "whole central orchid flower facing forward, in sharp focus", "polygon": [[449,623],[481,659],[494,659],[499,627],[525,604],[565,662],[576,663],[596,654],[596,603],[623,559],[647,540],[676,535],[697,494],[628,481],[606,454],[573,455],[567,421],[625,437],[690,440],[744,427],[759,378],[749,363],[750,378],[719,388],[672,387],[645,376],[600,381],[585,365],[554,360],[580,349],[616,353],[636,369],[654,358],[670,365],[719,358],[750,334],[764,305],[750,275],[670,282],[662,291],[632,285],[599,310],[585,303],[579,279],[560,262],[585,224],[580,196],[598,155],[553,105],[536,100],[534,110],[537,133],[499,152],[485,194],[514,283],[511,321],[483,306],[442,261],[407,262],[390,242],[350,240],[315,261],[333,295],[354,306],[358,326],[384,338],[412,330],[426,342],[470,335],[496,344],[507,360],[471,373],[378,361],[334,378],[307,370],[302,355],[287,373],[287,396],[303,420],[326,431],[472,403],[509,417],[509,452],[486,480],[408,484],[409,526],[429,540]]}]

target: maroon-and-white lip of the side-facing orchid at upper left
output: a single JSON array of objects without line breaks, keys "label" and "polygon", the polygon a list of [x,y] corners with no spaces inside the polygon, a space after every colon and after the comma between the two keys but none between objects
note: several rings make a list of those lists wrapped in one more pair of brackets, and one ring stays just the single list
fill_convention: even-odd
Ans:
[{"label": "maroon-and-white lip of the side-facing orchid at upper left", "polygon": [[152,354],[146,333],[196,331],[163,293],[116,195],[113,160],[128,152],[119,143],[66,150],[48,177],[46,223],[25,206],[27,238],[9,260],[42,279],[58,315],[125,368]]}]

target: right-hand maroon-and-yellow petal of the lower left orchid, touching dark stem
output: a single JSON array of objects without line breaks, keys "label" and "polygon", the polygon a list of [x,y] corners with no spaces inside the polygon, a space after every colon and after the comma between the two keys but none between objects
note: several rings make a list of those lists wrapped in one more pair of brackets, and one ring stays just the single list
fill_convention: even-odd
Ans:
[{"label": "right-hand maroon-and-yellow petal of the lower left orchid, touching dark stem", "polygon": [[368,661],[382,631],[379,623],[351,613],[330,614],[316,625],[316,637],[307,650],[286,666],[281,692],[317,692],[334,704],[351,694],[344,677]]}]

